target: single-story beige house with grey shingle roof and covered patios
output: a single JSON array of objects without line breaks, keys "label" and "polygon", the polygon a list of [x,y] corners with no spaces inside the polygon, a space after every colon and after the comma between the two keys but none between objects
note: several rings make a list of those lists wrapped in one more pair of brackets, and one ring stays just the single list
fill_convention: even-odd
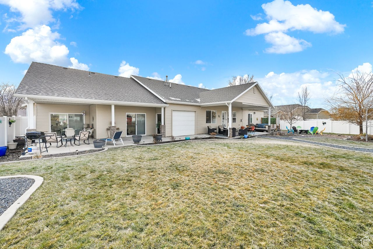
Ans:
[{"label": "single-story beige house with grey shingle roof and covered patios", "polygon": [[118,128],[123,136],[206,134],[208,125],[259,123],[263,110],[273,108],[257,82],[208,90],[37,62],[31,63],[15,96],[26,100],[28,129],[61,133],[69,127],[78,134],[89,125],[95,138]]}]

